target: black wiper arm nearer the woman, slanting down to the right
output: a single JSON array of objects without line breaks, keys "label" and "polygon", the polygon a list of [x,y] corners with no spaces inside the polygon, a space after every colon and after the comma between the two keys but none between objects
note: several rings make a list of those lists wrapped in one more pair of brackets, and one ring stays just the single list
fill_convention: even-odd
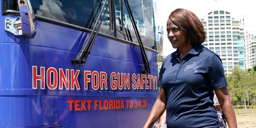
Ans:
[{"label": "black wiper arm nearer the woman, slanting down to the right", "polygon": [[126,8],[128,9],[128,14],[129,14],[129,16],[130,16],[130,18],[132,20],[132,26],[133,26],[133,28],[135,30],[136,37],[137,37],[138,42],[140,44],[140,52],[141,52],[143,64],[144,64],[144,67],[145,67],[145,69],[144,70],[141,69],[141,71],[142,71],[142,73],[150,73],[151,72],[150,65],[149,65],[149,62],[148,62],[148,58],[147,58],[146,52],[144,50],[144,46],[143,46],[141,38],[140,38],[140,33],[138,31],[138,28],[136,26],[136,22],[134,20],[133,15],[132,15],[132,10],[131,10],[131,8],[130,8],[130,6],[128,4],[128,0],[124,0],[124,2],[125,2],[125,5],[126,5]]}]

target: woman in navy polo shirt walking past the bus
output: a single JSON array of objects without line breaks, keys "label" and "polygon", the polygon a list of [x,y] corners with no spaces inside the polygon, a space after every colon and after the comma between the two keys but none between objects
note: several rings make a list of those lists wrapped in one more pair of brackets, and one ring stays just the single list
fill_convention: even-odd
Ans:
[{"label": "woman in navy polo shirt walking past the bus", "polygon": [[164,59],[160,93],[143,128],[150,128],[165,109],[167,128],[219,128],[214,91],[229,128],[237,128],[221,59],[201,45],[206,34],[198,17],[178,8],[167,20],[167,32],[177,50]]}]

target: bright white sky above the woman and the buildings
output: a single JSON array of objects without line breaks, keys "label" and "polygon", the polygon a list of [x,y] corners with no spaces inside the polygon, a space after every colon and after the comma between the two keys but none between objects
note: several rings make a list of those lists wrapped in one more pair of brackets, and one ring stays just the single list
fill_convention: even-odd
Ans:
[{"label": "bright white sky above the woman and the buildings", "polygon": [[166,22],[171,12],[177,8],[188,9],[199,18],[204,18],[208,12],[213,10],[224,10],[232,16],[244,16],[244,27],[247,31],[256,31],[256,23],[253,15],[256,8],[254,0],[155,0],[156,2],[156,24],[164,26],[163,54],[167,56],[176,49],[172,48],[166,32]]}]

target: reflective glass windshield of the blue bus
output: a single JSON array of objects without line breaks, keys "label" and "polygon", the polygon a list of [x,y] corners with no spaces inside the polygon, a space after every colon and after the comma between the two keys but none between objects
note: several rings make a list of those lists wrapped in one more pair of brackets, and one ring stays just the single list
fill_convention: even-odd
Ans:
[{"label": "reflective glass windshield of the blue bus", "polygon": [[[154,48],[156,28],[153,2],[148,0],[128,1],[143,45]],[[103,6],[104,2],[105,0],[72,0],[72,2],[70,0],[31,0],[34,14],[88,29],[92,29],[97,17],[103,15],[100,10],[104,8],[107,12],[99,32],[137,43],[132,21],[123,0],[114,0],[112,2],[114,9]],[[114,16],[111,16],[110,10],[115,12]],[[113,17],[115,18],[111,21],[110,18]]]}]

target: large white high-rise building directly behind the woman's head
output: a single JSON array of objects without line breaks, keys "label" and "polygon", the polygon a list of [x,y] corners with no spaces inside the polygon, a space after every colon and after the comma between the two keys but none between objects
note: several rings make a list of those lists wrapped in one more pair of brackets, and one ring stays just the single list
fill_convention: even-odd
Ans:
[{"label": "large white high-rise building directly behind the woman's head", "polygon": [[243,16],[233,17],[225,10],[214,10],[201,22],[206,30],[203,45],[220,56],[225,73],[232,73],[234,66],[245,69]]}]

